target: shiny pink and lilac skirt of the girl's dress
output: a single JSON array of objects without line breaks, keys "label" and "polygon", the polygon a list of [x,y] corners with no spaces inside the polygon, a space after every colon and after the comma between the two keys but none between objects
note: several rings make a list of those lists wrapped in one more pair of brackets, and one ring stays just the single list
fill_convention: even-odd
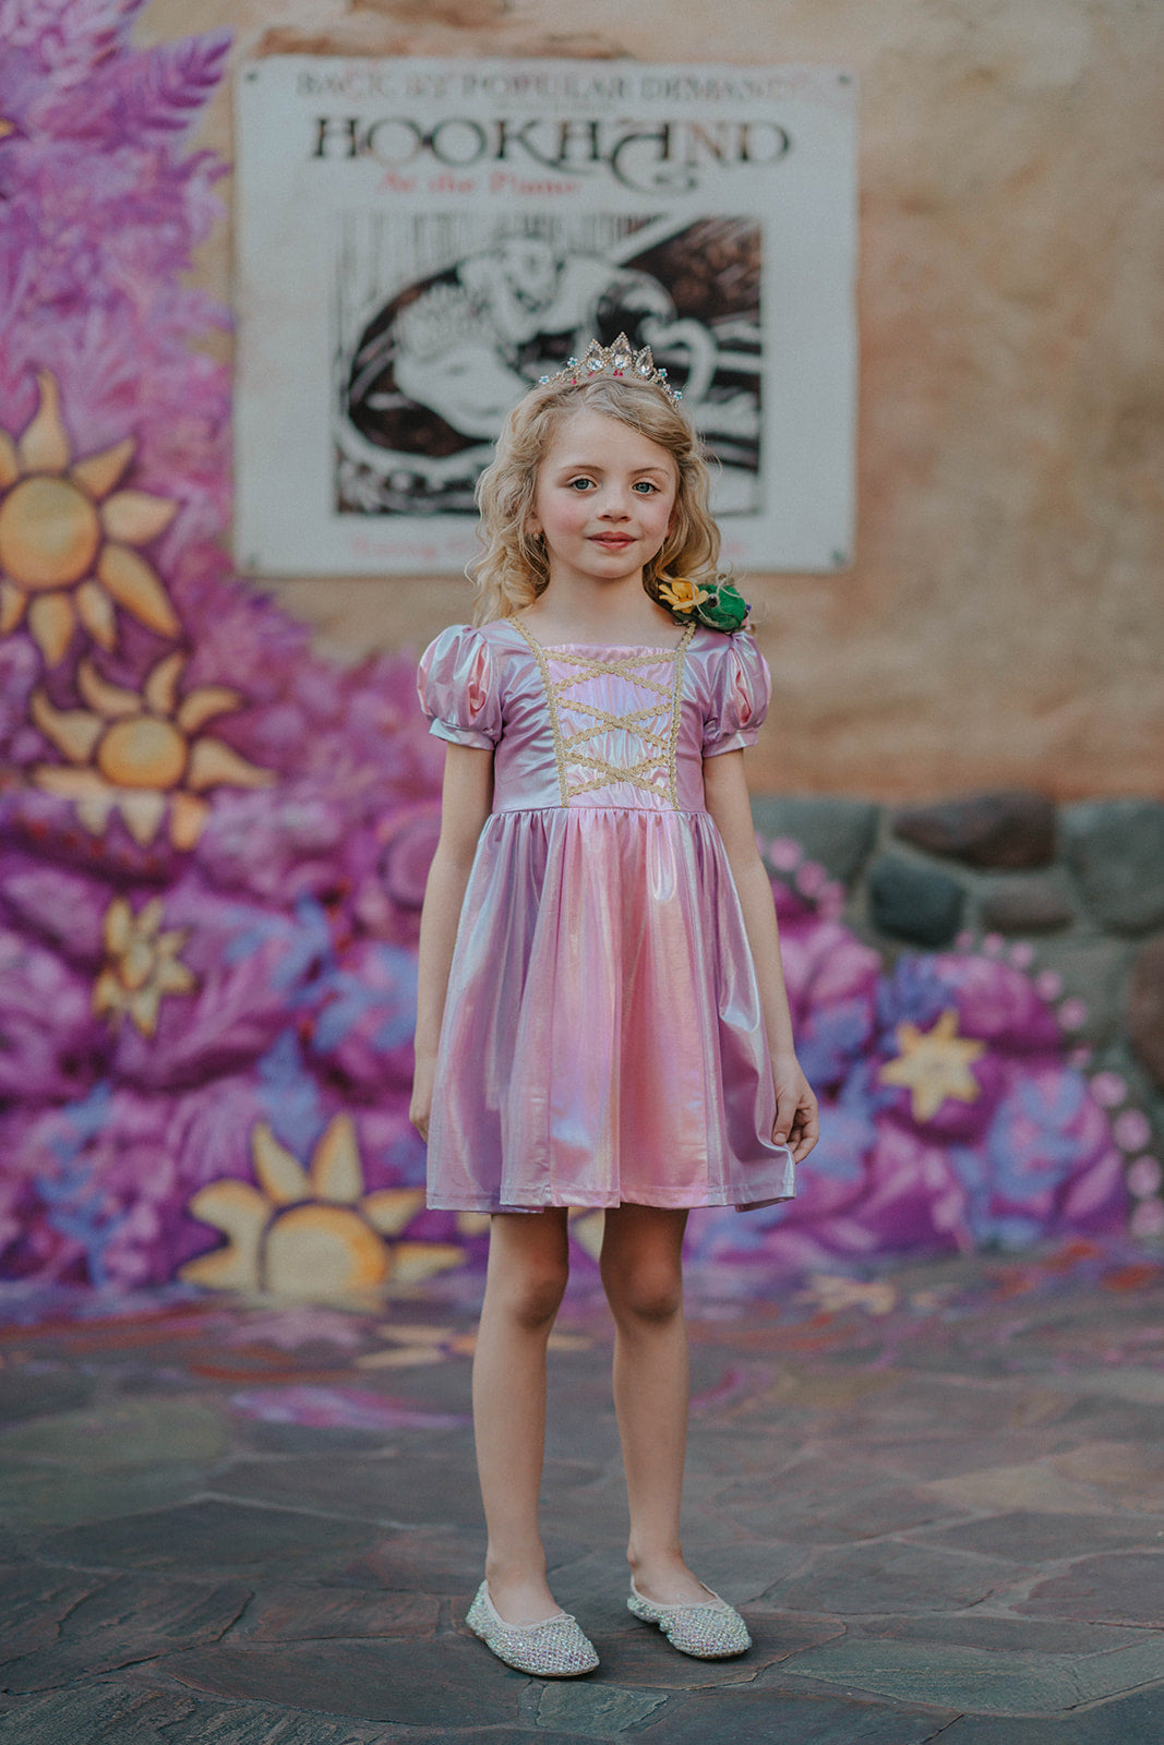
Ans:
[{"label": "shiny pink and lilac skirt of the girl's dress", "polygon": [[429,1204],[792,1192],[743,916],[707,813],[494,813],[464,899]]}]

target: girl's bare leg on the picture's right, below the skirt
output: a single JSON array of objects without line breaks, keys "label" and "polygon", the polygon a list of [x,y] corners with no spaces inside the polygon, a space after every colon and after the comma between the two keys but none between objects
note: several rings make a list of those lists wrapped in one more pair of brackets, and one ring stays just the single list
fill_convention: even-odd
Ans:
[{"label": "girl's bare leg on the picture's right, below the skirt", "polygon": [[658,1605],[705,1600],[679,1544],[688,1443],[686,1211],[618,1206],[606,1215],[602,1288],[614,1316],[614,1410],[623,1441],[635,1586]]}]

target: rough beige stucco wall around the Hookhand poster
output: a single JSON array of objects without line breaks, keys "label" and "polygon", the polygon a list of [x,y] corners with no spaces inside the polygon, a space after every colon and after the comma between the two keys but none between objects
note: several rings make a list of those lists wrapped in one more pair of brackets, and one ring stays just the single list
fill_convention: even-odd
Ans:
[{"label": "rough beige stucco wall around the Hookhand poster", "polygon": [[[841,576],[752,576],[756,789],[1164,794],[1157,0],[154,0],[237,52],[846,63],[862,86],[860,497]],[[222,92],[201,138],[230,154]],[[199,277],[229,290],[229,236]],[[342,656],[468,586],[265,583]]]}]

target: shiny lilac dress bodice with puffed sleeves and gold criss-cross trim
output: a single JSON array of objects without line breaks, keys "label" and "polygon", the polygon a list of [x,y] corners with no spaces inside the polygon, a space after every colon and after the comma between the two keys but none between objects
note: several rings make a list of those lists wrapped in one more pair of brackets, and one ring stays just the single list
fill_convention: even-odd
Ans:
[{"label": "shiny lilac dress bodice with puffed sleeves and gold criss-cross trim", "polygon": [[494,750],[494,811],[703,811],[703,757],[756,740],[768,670],[750,635],[543,646],[503,618],[443,632],[421,698],[433,733]]}]

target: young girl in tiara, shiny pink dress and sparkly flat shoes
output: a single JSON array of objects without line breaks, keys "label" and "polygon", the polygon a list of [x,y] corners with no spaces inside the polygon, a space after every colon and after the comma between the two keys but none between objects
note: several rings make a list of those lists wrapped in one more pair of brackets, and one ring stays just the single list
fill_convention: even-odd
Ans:
[{"label": "young girl in tiara, shiny pink dress and sparkly flat shoes", "polygon": [[698,440],[649,351],[592,344],[480,482],[476,628],[421,661],[448,742],[421,921],[412,1119],[428,1202],[492,1215],[473,1419],[489,1527],[468,1623],[537,1675],[597,1665],[537,1532],[567,1208],[606,1208],[632,1612],[750,1647],[688,1569],[688,1208],[792,1194],[817,1139],[742,749],[768,668],[717,574]]}]

